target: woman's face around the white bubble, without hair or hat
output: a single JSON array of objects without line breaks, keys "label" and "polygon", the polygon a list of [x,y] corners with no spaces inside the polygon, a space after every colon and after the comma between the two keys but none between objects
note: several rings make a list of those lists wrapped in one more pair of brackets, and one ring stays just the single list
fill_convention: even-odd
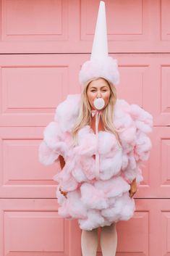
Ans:
[{"label": "woman's face around the white bubble, without hair or hat", "polygon": [[107,83],[106,80],[104,80],[103,78],[98,78],[91,81],[88,85],[87,96],[92,110],[95,110],[93,102],[95,99],[98,98],[103,98],[105,102],[104,107],[106,107],[109,103],[109,99],[111,96],[111,89],[109,83]]}]

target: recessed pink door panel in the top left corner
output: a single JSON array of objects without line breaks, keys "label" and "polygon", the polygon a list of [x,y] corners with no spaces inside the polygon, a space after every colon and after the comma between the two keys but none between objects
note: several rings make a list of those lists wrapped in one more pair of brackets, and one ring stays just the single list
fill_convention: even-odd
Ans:
[{"label": "recessed pink door panel in the top left corner", "polygon": [[62,0],[2,0],[1,40],[67,39],[67,9]]}]

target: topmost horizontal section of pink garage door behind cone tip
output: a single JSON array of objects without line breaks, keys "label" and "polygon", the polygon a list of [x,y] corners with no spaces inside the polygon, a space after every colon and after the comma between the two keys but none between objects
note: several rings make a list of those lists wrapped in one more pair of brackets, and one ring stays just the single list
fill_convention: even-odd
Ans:
[{"label": "topmost horizontal section of pink garage door behind cone tip", "polygon": [[[1,0],[0,51],[88,53],[98,3]],[[106,0],[109,50],[169,52],[169,8],[169,0]]]}]

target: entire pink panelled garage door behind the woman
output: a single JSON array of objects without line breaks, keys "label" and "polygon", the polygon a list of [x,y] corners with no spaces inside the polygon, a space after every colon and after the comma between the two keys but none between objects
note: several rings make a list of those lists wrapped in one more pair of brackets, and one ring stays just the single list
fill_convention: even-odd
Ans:
[{"label": "entire pink panelled garage door behind the woman", "polygon": [[[0,2],[0,256],[80,256],[77,222],[57,213],[59,166],[41,165],[38,145],[56,105],[80,92],[99,1]],[[154,117],[137,210],[117,225],[116,255],[169,256],[170,1],[108,0],[106,10],[118,96]]]}]

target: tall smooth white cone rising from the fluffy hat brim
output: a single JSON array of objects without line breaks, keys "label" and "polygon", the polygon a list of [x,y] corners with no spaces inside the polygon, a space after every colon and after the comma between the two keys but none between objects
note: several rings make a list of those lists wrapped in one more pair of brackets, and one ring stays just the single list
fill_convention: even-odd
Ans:
[{"label": "tall smooth white cone rising from the fluffy hat brim", "polygon": [[108,41],[106,27],[106,10],[104,1],[100,2],[98,19],[95,25],[95,36],[90,59],[100,59],[108,56]]}]

